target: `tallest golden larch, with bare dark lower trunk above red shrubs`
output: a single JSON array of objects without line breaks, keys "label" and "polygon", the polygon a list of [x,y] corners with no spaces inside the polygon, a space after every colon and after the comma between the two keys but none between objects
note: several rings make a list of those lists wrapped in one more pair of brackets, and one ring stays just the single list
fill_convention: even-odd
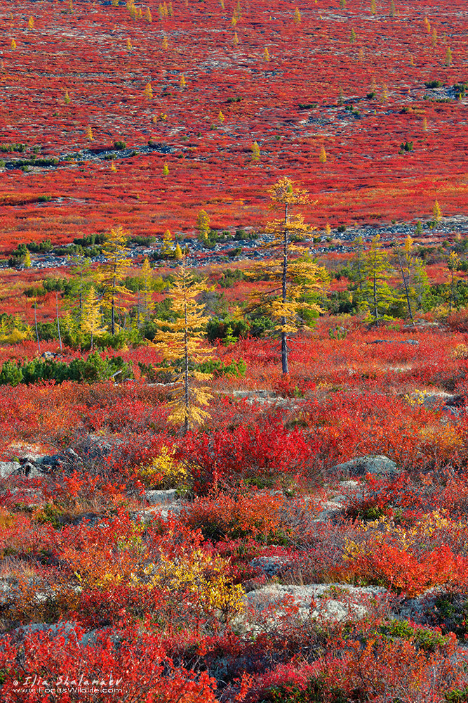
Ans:
[{"label": "tallest golden larch, with bare dark lower trunk above red shrubs", "polygon": [[278,284],[278,288],[262,297],[270,316],[276,321],[275,332],[281,337],[281,368],[283,374],[287,374],[288,337],[297,333],[300,326],[307,325],[304,317],[306,310],[309,314],[319,314],[320,307],[314,300],[314,293],[318,299],[326,276],[313,259],[301,256],[303,250],[293,245],[294,240],[303,238],[310,232],[302,215],[291,215],[295,205],[309,202],[307,191],[285,177],[269,188],[269,196],[272,205],[281,205],[284,212],[281,219],[269,222],[266,227],[267,233],[274,235],[268,247],[276,254],[276,258],[265,259],[254,266],[250,273],[256,276],[260,271],[264,278]]}]

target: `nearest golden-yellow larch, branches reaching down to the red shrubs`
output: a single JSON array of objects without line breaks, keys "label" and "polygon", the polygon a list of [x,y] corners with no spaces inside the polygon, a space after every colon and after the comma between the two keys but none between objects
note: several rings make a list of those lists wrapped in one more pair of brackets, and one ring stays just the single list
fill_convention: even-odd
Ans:
[{"label": "nearest golden-yellow larch, branches reaching down to the red shrubs", "polygon": [[158,321],[161,331],[154,337],[163,362],[168,364],[164,369],[171,370],[175,379],[169,419],[180,424],[184,434],[210,416],[201,406],[208,405],[211,395],[199,382],[208,380],[211,375],[194,368],[196,364],[213,358],[204,339],[208,317],[197,302],[203,290],[208,290],[206,280],[194,280],[182,260],[169,292],[175,318],[171,322]]}]

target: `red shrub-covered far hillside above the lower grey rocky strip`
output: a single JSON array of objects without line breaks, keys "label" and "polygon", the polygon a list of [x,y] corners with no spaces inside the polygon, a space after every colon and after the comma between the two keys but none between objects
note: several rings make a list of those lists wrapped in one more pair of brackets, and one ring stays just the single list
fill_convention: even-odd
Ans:
[{"label": "red shrub-covered far hillside above the lower grey rocky strip", "polygon": [[[2,144],[25,145],[4,155],[4,251],[49,237],[66,243],[109,222],[134,234],[191,232],[201,207],[212,226],[261,226],[265,174],[268,183],[300,179],[319,228],[430,217],[436,198],[443,212],[461,213],[466,98],[452,86],[465,78],[463,4],[399,2],[392,16],[390,4],[377,2],[373,15],[370,0],[341,9],[320,0],[300,7],[299,24],[295,6],[223,11],[215,0],[175,0],[162,18],[150,8],[149,22],[145,8],[133,19],[122,2],[76,0],[72,11],[65,2],[4,3]],[[431,81],[443,87],[427,89]],[[116,172],[97,154],[114,141],[139,152],[115,152]],[[399,153],[410,141],[413,151]],[[8,166],[34,156],[59,164]]]}]

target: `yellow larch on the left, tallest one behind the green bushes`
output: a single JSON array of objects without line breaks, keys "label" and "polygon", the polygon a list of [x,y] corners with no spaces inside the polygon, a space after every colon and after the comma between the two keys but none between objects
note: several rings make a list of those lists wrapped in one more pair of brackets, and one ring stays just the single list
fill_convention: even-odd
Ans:
[{"label": "yellow larch on the left, tallest one behind the green bushes", "polygon": [[122,295],[131,295],[131,291],[123,285],[128,269],[128,232],[122,226],[112,227],[106,235],[102,247],[105,262],[98,271],[98,280],[104,290],[105,304],[111,311],[111,333],[115,335],[115,314],[117,302]]}]

